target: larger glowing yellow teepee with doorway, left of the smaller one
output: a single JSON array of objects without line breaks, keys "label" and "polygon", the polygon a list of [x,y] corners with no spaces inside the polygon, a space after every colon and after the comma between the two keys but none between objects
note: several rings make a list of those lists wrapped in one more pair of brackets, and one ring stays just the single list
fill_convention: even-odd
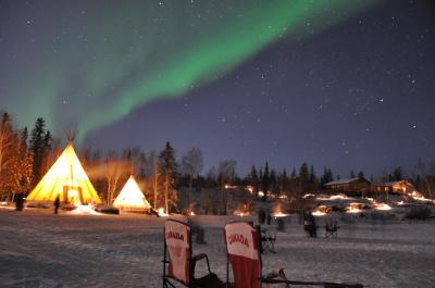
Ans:
[{"label": "larger glowing yellow teepee with doorway, left of the smaller one", "polygon": [[70,142],[44,178],[28,195],[28,201],[54,201],[60,196],[63,203],[101,203],[96,189],[83,168],[73,143]]}]

